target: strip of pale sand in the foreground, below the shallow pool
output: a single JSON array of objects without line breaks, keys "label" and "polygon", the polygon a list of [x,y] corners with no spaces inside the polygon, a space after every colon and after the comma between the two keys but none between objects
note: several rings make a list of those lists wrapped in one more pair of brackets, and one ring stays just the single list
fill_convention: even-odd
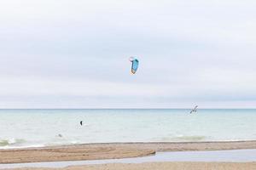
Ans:
[{"label": "strip of pale sand in the foreground, below the shallow pool", "polygon": [[102,165],[69,166],[63,168],[50,167],[20,167],[8,168],[9,170],[252,170],[256,168],[256,162],[147,162],[139,164],[111,163]]}]

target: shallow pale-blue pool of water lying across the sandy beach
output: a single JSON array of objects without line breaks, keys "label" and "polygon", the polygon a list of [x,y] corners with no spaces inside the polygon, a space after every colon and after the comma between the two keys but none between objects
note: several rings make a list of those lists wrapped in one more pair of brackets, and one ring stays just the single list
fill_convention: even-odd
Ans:
[{"label": "shallow pale-blue pool of water lying across the sandy beach", "polygon": [[106,163],[143,163],[152,161],[232,161],[250,162],[256,161],[256,150],[211,150],[211,151],[174,151],[157,152],[154,156],[107,159],[92,161],[49,161],[34,163],[0,164],[0,168],[15,167],[67,167],[88,164]]}]

